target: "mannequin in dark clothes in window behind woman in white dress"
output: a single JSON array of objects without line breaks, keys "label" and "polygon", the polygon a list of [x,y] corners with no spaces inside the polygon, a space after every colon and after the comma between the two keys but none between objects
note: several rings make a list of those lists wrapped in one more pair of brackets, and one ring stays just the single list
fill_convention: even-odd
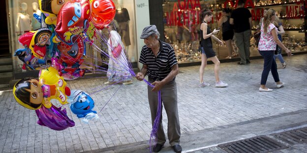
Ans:
[{"label": "mannequin in dark clothes in window behind woman in white dress", "polygon": [[123,0],[117,0],[115,1],[115,4],[117,4],[117,10],[114,20],[116,20],[120,26],[118,32],[121,35],[123,45],[125,46],[125,54],[128,56],[128,47],[131,45],[129,34],[129,13],[128,10],[123,7]]}]

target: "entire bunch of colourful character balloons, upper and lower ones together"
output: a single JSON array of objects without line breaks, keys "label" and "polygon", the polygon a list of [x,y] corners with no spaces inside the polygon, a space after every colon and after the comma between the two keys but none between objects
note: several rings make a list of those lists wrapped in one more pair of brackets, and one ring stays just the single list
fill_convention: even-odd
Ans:
[{"label": "entire bunch of colourful character balloons, upper and lower ones together", "polygon": [[35,110],[41,126],[55,130],[73,127],[66,110],[50,102],[70,103],[71,111],[83,122],[98,118],[89,94],[72,90],[65,80],[83,77],[80,68],[86,56],[86,42],[93,42],[95,31],[108,26],[115,17],[112,0],[39,0],[41,14],[33,16],[42,28],[19,37],[24,47],[15,56],[24,63],[22,69],[40,70],[39,79],[19,80],[13,89],[15,100]]}]

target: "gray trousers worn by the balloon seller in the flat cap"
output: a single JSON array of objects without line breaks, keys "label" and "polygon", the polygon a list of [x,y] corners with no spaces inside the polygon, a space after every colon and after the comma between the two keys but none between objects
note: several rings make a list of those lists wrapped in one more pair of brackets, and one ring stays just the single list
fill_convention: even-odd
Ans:
[{"label": "gray trousers worn by the balloon seller in the flat cap", "polygon": [[[154,81],[149,79],[149,82],[153,83]],[[153,89],[152,87],[148,86],[148,101],[151,109],[152,125],[153,125],[157,112],[158,93],[152,92],[151,91],[152,89]],[[168,119],[167,136],[169,143],[171,146],[179,145],[181,132],[180,132],[178,107],[177,107],[177,84],[175,80],[168,82],[162,87],[161,99]],[[157,131],[157,143],[163,145],[165,141],[166,138],[163,130],[162,114],[161,114],[161,120]]]}]

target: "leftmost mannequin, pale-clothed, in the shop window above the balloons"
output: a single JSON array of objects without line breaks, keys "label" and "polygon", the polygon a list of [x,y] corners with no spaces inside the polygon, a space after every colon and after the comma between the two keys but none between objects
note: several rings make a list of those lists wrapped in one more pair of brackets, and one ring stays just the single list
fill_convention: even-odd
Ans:
[{"label": "leftmost mannequin, pale-clothed, in the shop window above the balloons", "polygon": [[31,19],[27,10],[28,4],[25,2],[21,3],[21,11],[17,13],[16,18],[16,32],[18,35],[22,35],[31,30]]}]

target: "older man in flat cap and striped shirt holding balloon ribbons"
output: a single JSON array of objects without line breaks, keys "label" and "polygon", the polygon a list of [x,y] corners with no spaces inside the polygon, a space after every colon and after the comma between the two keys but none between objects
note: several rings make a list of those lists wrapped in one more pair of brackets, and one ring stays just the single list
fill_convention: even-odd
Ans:
[{"label": "older man in flat cap and striped shirt holding balloon ribbons", "polygon": [[[141,34],[145,46],[142,48],[139,62],[143,64],[141,72],[136,78],[140,81],[148,76],[148,81],[154,87],[148,86],[148,101],[151,110],[152,124],[154,123],[157,107],[158,93],[161,92],[161,101],[167,114],[167,135],[169,143],[176,153],[181,153],[180,146],[180,124],[177,106],[177,84],[176,75],[179,72],[175,51],[170,44],[159,40],[160,34],[154,25],[146,26]],[[162,104],[161,103],[161,104]],[[162,116],[162,114],[161,114]],[[157,129],[157,144],[153,152],[159,152],[166,142],[162,117]]]}]

